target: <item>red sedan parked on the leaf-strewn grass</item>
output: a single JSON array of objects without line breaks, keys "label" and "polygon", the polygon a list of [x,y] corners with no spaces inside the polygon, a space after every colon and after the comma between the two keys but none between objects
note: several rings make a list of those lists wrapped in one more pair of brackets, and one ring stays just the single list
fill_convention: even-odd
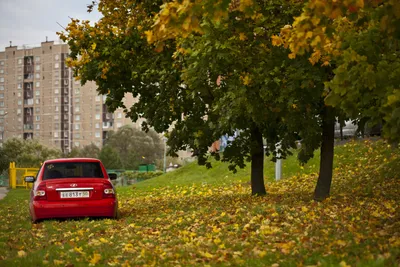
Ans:
[{"label": "red sedan parked on the leaf-strewn grass", "polygon": [[34,183],[29,210],[33,222],[47,218],[116,218],[118,201],[111,180],[98,159],[54,159],[43,163]]}]

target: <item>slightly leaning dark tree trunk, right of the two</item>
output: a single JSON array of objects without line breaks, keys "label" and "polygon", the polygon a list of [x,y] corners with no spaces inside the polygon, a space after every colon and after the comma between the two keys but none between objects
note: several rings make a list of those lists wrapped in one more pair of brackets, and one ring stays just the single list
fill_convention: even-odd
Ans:
[{"label": "slightly leaning dark tree trunk, right of the two", "polygon": [[317,201],[322,201],[329,197],[332,183],[334,137],[334,109],[333,107],[325,106],[322,112],[322,144],[319,176],[314,191],[314,199]]}]

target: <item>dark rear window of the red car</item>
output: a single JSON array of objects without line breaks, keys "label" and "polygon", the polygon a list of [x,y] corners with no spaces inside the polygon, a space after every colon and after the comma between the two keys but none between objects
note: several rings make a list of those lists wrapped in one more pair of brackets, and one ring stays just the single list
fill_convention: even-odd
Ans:
[{"label": "dark rear window of the red car", "polygon": [[43,180],[59,178],[104,178],[99,162],[57,162],[44,166]]}]

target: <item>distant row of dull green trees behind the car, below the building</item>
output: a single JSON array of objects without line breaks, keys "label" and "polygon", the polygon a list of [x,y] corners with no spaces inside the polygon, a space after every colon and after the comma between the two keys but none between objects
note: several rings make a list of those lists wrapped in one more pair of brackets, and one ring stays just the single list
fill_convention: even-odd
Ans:
[{"label": "distant row of dull green trees behind the car, below the building", "polygon": [[150,163],[161,168],[163,154],[164,145],[156,132],[149,130],[146,133],[130,126],[110,131],[102,148],[92,143],[82,148],[74,147],[68,154],[46,147],[37,140],[12,138],[0,147],[0,174],[7,170],[10,162],[15,162],[18,167],[39,167],[47,159],[60,157],[98,158],[108,169],[136,170],[140,164]]}]

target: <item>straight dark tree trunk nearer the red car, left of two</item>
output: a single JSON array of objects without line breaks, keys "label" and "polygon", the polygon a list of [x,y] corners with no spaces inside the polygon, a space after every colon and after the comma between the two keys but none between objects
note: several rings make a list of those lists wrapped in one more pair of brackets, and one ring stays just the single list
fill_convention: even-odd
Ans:
[{"label": "straight dark tree trunk nearer the red car, left of two", "polygon": [[258,127],[251,132],[251,194],[266,195],[264,185],[264,145]]}]

